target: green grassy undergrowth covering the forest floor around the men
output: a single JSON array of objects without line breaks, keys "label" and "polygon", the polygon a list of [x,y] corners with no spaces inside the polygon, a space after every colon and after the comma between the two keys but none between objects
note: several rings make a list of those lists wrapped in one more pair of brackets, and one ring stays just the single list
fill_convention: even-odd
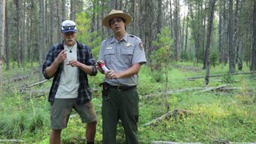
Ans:
[{"label": "green grassy undergrowth covering the forest floor around the men", "polygon": [[[36,69],[31,66],[27,67],[21,73],[14,73],[16,70],[3,70],[3,81],[30,75],[31,71]],[[249,71],[248,67],[244,67],[242,72],[246,71]],[[228,87],[238,87],[239,90],[208,92],[184,90],[170,93],[167,95],[169,111],[167,111],[164,96],[166,78],[164,74],[160,74],[162,82],[155,82],[153,77],[155,74],[160,73],[154,72],[153,74],[146,66],[142,66],[139,73],[140,117],[138,130],[141,143],[150,143],[151,141],[202,143],[214,143],[217,140],[256,141],[256,97],[254,92],[256,78],[253,74],[210,78],[209,87],[229,83]],[[210,74],[228,74],[228,66],[211,67]],[[186,78],[205,75],[206,71],[202,70],[202,66],[194,66],[191,62],[178,62],[175,66],[171,66],[169,71],[167,90],[202,88],[205,86],[204,78],[194,81],[189,81]],[[98,86],[102,82],[102,78],[104,78],[102,74],[90,77],[90,87],[95,90],[93,102],[98,114],[96,134],[98,143],[102,141],[102,97]],[[35,82],[38,82],[38,73],[32,74],[30,78],[22,81],[7,82],[2,86],[0,139],[21,139],[26,143],[49,143],[50,104],[47,102],[47,93],[51,81],[43,83],[42,86],[26,87]],[[21,90],[24,90],[22,94]],[[46,95],[30,98],[42,93],[40,91],[46,91]],[[178,109],[186,110],[188,113],[171,115],[160,122],[144,126],[154,118]],[[70,118],[68,127],[62,131],[62,142],[82,143],[84,133],[85,125],[81,123],[78,115],[74,115],[74,118]],[[118,143],[124,143],[125,140],[120,125],[118,125],[117,140]]]}]

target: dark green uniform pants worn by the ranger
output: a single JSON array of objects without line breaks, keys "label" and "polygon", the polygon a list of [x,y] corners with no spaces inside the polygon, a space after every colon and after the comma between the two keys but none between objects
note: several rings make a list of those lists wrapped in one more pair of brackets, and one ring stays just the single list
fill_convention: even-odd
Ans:
[{"label": "dark green uniform pants worn by the ranger", "polygon": [[137,89],[109,89],[102,97],[103,144],[116,143],[119,118],[126,134],[127,144],[138,143],[138,92]]}]

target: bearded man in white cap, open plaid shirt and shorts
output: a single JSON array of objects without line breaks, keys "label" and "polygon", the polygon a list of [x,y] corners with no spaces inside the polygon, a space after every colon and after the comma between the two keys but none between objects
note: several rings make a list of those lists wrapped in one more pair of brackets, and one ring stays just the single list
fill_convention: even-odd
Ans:
[{"label": "bearded man in white cap, open plaid shirt and shorts", "polygon": [[95,59],[88,46],[75,40],[75,22],[62,22],[61,31],[64,41],[50,48],[42,66],[45,78],[54,77],[48,99],[51,104],[50,143],[61,143],[61,132],[67,126],[72,109],[87,123],[87,143],[94,143],[97,117],[90,101],[92,94],[87,74],[97,74]]}]

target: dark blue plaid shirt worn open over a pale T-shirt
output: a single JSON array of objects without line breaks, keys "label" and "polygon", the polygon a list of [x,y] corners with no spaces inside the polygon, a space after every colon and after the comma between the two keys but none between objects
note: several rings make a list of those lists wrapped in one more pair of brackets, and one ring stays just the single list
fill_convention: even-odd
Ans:
[{"label": "dark blue plaid shirt worn open over a pale T-shirt", "polygon": [[[77,41],[77,44],[78,44],[78,54],[77,54],[78,62],[86,64],[87,66],[92,66],[92,68],[93,68],[92,75],[96,75],[98,71],[96,69],[96,66],[95,66],[96,62],[91,53],[90,48],[78,41]],[[46,56],[46,61],[42,65],[42,74],[44,75],[44,77],[46,79],[50,79],[50,77],[47,76],[47,74],[46,74],[46,68],[54,62],[55,58],[58,57],[58,54],[62,50],[64,50],[63,42],[59,43],[55,46],[52,46],[50,48],[50,50]],[[55,94],[57,93],[57,90],[58,90],[58,84],[59,84],[60,77],[62,74],[62,69],[63,69],[63,64],[58,66],[58,70],[54,74],[54,81],[52,83],[52,86],[50,87],[50,93],[49,93],[49,98],[48,98],[48,102],[50,102],[51,104],[53,104]],[[86,103],[91,100],[92,94],[91,94],[91,90],[90,90],[90,87],[88,84],[87,74],[84,71],[79,70],[78,75],[79,75],[80,84],[79,84],[79,88],[78,88],[77,102],[78,102],[78,104],[83,104],[83,103]]]}]

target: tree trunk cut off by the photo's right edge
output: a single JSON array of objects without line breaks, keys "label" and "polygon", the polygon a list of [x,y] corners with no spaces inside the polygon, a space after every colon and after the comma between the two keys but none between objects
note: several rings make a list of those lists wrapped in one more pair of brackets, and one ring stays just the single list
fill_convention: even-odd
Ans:
[{"label": "tree trunk cut off by the photo's right edge", "polygon": [[251,66],[250,70],[256,70],[256,2],[254,1],[254,22],[253,22],[253,45],[251,49]]}]

